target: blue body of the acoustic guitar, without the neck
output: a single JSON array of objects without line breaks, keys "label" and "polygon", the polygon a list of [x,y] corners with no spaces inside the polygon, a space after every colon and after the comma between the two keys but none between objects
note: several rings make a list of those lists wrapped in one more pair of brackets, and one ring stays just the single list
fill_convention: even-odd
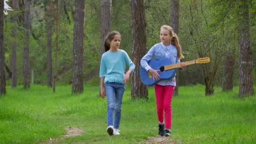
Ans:
[{"label": "blue body of the acoustic guitar, without the neck", "polygon": [[[171,61],[171,59],[168,58],[164,58],[164,59],[160,59],[160,60],[150,60],[148,62],[149,66],[152,69],[160,69],[161,66],[165,66],[165,65],[170,65],[173,64],[173,62]],[[141,82],[144,83],[147,86],[152,86],[157,84],[160,80],[170,80],[173,77],[175,77],[175,69],[170,69],[170,70],[166,70],[163,72],[158,72],[158,74],[161,76],[160,80],[153,80],[153,76],[150,77],[149,75],[150,72],[146,71],[143,67],[139,67],[139,75],[141,78]]]}]

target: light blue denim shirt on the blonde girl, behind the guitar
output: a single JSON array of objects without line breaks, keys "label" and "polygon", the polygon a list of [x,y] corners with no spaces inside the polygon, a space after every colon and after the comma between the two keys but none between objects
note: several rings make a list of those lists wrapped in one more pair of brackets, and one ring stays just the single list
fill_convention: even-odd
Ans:
[{"label": "light blue denim shirt on the blonde girl, behind the guitar", "polygon": [[[180,60],[177,57],[178,51],[175,45],[170,44],[169,46],[163,45],[163,43],[157,43],[150,50],[147,54],[141,59],[141,67],[146,69],[147,71],[151,69],[148,64],[148,61],[151,60],[154,56],[155,60],[169,58],[172,60],[173,64],[179,63]],[[161,80],[157,83],[158,85],[173,85],[176,86],[175,77],[171,80]]]}]

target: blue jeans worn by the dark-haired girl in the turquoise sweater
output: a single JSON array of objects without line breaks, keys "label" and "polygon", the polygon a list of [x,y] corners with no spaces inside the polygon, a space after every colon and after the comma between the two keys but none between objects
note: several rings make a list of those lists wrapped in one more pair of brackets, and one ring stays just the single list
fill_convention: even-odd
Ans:
[{"label": "blue jeans worn by the dark-haired girl in the turquoise sweater", "polygon": [[107,95],[107,125],[113,125],[113,113],[115,112],[114,128],[118,129],[121,120],[121,105],[123,93],[125,91],[124,83],[105,83]]}]

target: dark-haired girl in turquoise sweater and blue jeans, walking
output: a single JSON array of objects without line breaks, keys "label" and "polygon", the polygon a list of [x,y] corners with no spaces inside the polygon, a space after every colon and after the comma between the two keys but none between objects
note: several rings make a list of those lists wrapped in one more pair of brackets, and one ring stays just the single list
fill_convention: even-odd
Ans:
[{"label": "dark-haired girl in turquoise sweater and blue jeans, walking", "polygon": [[[117,31],[110,32],[105,40],[105,53],[101,57],[99,77],[102,98],[107,96],[107,132],[109,135],[119,135],[121,105],[125,83],[129,80],[135,66],[128,54],[119,49],[121,35]],[[125,73],[126,64],[129,70]],[[106,92],[104,89],[106,88]],[[115,120],[113,123],[113,113]]]}]

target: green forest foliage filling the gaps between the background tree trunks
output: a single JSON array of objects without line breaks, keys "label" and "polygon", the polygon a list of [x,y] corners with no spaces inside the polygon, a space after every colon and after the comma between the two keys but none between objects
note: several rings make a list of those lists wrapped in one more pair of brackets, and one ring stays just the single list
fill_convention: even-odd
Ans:
[{"label": "green forest foliage filling the gaps between the background tree trunks", "polygon": [[[47,30],[45,20],[51,19],[52,26],[52,66],[55,74],[55,52],[56,52],[56,2],[51,5],[52,14],[48,17],[46,6],[48,0],[31,1],[31,35],[29,39],[30,68],[35,72],[35,83],[44,85],[47,83]],[[249,1],[251,46],[253,49],[253,66],[256,64],[256,0]],[[57,83],[65,85],[72,79],[73,64],[73,14],[75,9],[74,0],[60,1],[59,19],[59,51],[58,51],[58,80]],[[100,26],[101,26],[101,0],[86,0],[85,3],[85,35],[84,35],[84,76],[87,80],[97,79],[99,73],[100,59]],[[202,56],[209,56],[212,69],[215,61],[220,61],[215,80],[221,84],[222,59],[224,51],[238,48],[237,42],[237,8],[235,0],[182,0],[180,3],[179,17],[179,39],[182,50],[187,61]],[[147,22],[147,47],[148,50],[155,43],[160,43],[159,31],[164,24],[170,25],[171,3],[170,0],[146,0],[145,15]],[[18,23],[11,22],[11,16],[18,15]],[[23,51],[24,51],[24,5],[19,3],[19,11],[9,11],[5,16],[4,44],[5,61],[11,67],[11,47],[17,42],[17,74],[18,85],[23,83]],[[17,26],[17,39],[11,36],[12,27]],[[132,27],[131,27],[131,5],[130,0],[112,0],[111,30],[117,30],[122,35],[120,48],[132,57]],[[238,50],[235,53],[235,82],[238,83]],[[180,73],[180,85],[204,84],[201,65],[189,66]],[[253,67],[254,71],[256,70]],[[8,80],[7,84],[11,84]]]}]

